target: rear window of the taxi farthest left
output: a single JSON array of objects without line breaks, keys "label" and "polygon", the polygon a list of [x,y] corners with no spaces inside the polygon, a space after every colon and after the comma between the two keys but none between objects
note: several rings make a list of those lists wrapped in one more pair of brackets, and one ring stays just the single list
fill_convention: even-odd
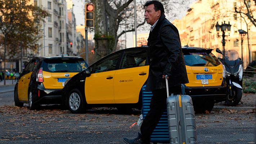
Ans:
[{"label": "rear window of the taxi farthest left", "polygon": [[43,71],[47,72],[80,72],[88,65],[82,58],[45,59]]}]

